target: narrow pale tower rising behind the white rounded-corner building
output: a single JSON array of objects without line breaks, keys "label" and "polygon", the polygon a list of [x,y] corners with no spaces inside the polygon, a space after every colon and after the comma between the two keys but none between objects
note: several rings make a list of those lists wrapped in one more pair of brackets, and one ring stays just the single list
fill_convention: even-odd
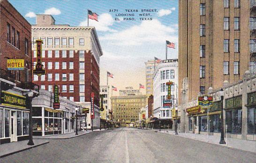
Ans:
[{"label": "narrow pale tower rising behind the white rounded-corner building", "polygon": [[153,80],[152,80],[152,74],[155,71],[155,68],[158,66],[158,63],[152,59],[145,62],[146,65],[146,95],[149,97],[150,95],[153,95]]}]

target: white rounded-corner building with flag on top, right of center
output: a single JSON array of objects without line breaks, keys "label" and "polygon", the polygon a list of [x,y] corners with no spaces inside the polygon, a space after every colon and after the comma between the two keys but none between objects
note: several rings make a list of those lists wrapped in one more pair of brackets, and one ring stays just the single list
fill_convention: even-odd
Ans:
[{"label": "white rounded-corner building with flag on top, right of center", "polygon": [[[178,102],[178,59],[162,60],[155,69],[152,75],[154,81],[154,117],[160,119],[171,119],[171,109],[177,106]],[[164,108],[163,100],[167,99],[167,85],[166,82],[172,81],[171,86],[171,100],[172,108]]]}]

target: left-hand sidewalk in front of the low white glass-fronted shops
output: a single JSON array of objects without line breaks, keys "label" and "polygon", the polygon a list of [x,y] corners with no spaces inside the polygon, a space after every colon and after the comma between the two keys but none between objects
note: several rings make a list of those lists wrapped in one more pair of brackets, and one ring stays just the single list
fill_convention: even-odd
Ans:
[{"label": "left-hand sidewalk in front of the low white glass-fronted shops", "polygon": [[56,134],[56,135],[49,135],[49,136],[33,136],[33,139],[70,139],[75,138],[77,136],[82,136],[87,133],[91,133],[91,131],[79,131],[77,132],[78,135],[74,133],[65,133],[65,134]]}]

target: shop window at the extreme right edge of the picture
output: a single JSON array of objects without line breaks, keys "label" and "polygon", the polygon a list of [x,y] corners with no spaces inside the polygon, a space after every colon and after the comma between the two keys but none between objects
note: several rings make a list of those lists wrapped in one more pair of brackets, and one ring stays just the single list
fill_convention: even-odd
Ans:
[{"label": "shop window at the extreme right edge of the picture", "polygon": [[248,108],[248,134],[256,134],[256,108]]}]

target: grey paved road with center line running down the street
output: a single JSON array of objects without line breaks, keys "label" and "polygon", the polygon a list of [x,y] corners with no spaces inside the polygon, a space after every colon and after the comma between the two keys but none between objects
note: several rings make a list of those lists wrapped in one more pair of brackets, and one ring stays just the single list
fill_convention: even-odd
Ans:
[{"label": "grey paved road with center line running down the street", "polygon": [[256,163],[256,154],[136,128],[95,131],[4,157],[1,163]]}]

